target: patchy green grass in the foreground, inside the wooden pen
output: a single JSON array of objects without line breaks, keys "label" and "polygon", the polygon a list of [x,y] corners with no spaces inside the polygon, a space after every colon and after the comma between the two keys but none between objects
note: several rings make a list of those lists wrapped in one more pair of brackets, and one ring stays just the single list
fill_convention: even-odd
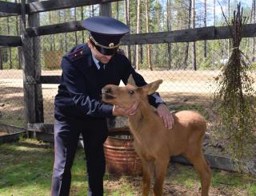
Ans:
[{"label": "patchy green grass in the foreground, inside the wooden pen", "polygon": [[[0,195],[50,195],[54,149],[34,139],[0,145]],[[85,155],[78,149],[70,195],[86,195]],[[105,195],[140,195],[141,177],[106,174]],[[200,183],[193,167],[171,164],[165,195],[199,195]],[[256,177],[213,170],[210,195],[256,195]]]}]

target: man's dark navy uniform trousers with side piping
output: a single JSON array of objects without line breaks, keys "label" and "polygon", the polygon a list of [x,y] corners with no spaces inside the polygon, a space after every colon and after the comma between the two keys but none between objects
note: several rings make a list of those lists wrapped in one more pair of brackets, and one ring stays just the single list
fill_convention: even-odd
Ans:
[{"label": "man's dark navy uniform trousers with side piping", "polygon": [[103,143],[106,140],[106,120],[55,120],[54,123],[54,171],[51,185],[52,196],[70,194],[71,167],[82,133],[86,153],[89,196],[103,195],[105,156]]}]

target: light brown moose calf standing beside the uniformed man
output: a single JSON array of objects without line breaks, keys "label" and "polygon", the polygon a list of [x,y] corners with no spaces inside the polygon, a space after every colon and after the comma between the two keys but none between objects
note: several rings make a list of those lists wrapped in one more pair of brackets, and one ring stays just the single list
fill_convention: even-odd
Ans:
[{"label": "light brown moose calf standing beside the uniformed man", "polygon": [[102,88],[102,100],[122,108],[138,103],[136,113],[128,116],[128,122],[135,151],[142,159],[143,196],[150,193],[151,174],[155,174],[154,196],[163,195],[163,182],[172,155],[183,155],[194,165],[201,178],[202,195],[208,195],[211,171],[202,154],[206,121],[197,112],[182,111],[174,114],[173,128],[168,130],[147,99],[161,83],[162,80],[156,80],[136,87],[130,76],[125,87],[109,84]]}]

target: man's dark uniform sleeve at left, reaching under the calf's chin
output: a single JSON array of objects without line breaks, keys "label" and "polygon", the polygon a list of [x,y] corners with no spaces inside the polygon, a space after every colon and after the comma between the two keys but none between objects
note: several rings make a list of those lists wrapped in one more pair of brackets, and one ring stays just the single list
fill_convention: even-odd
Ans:
[{"label": "man's dark uniform sleeve at left, reaching under the calf's chin", "polygon": [[66,57],[62,58],[62,82],[66,86],[75,106],[85,115],[112,117],[113,106],[90,99],[82,73]]}]

